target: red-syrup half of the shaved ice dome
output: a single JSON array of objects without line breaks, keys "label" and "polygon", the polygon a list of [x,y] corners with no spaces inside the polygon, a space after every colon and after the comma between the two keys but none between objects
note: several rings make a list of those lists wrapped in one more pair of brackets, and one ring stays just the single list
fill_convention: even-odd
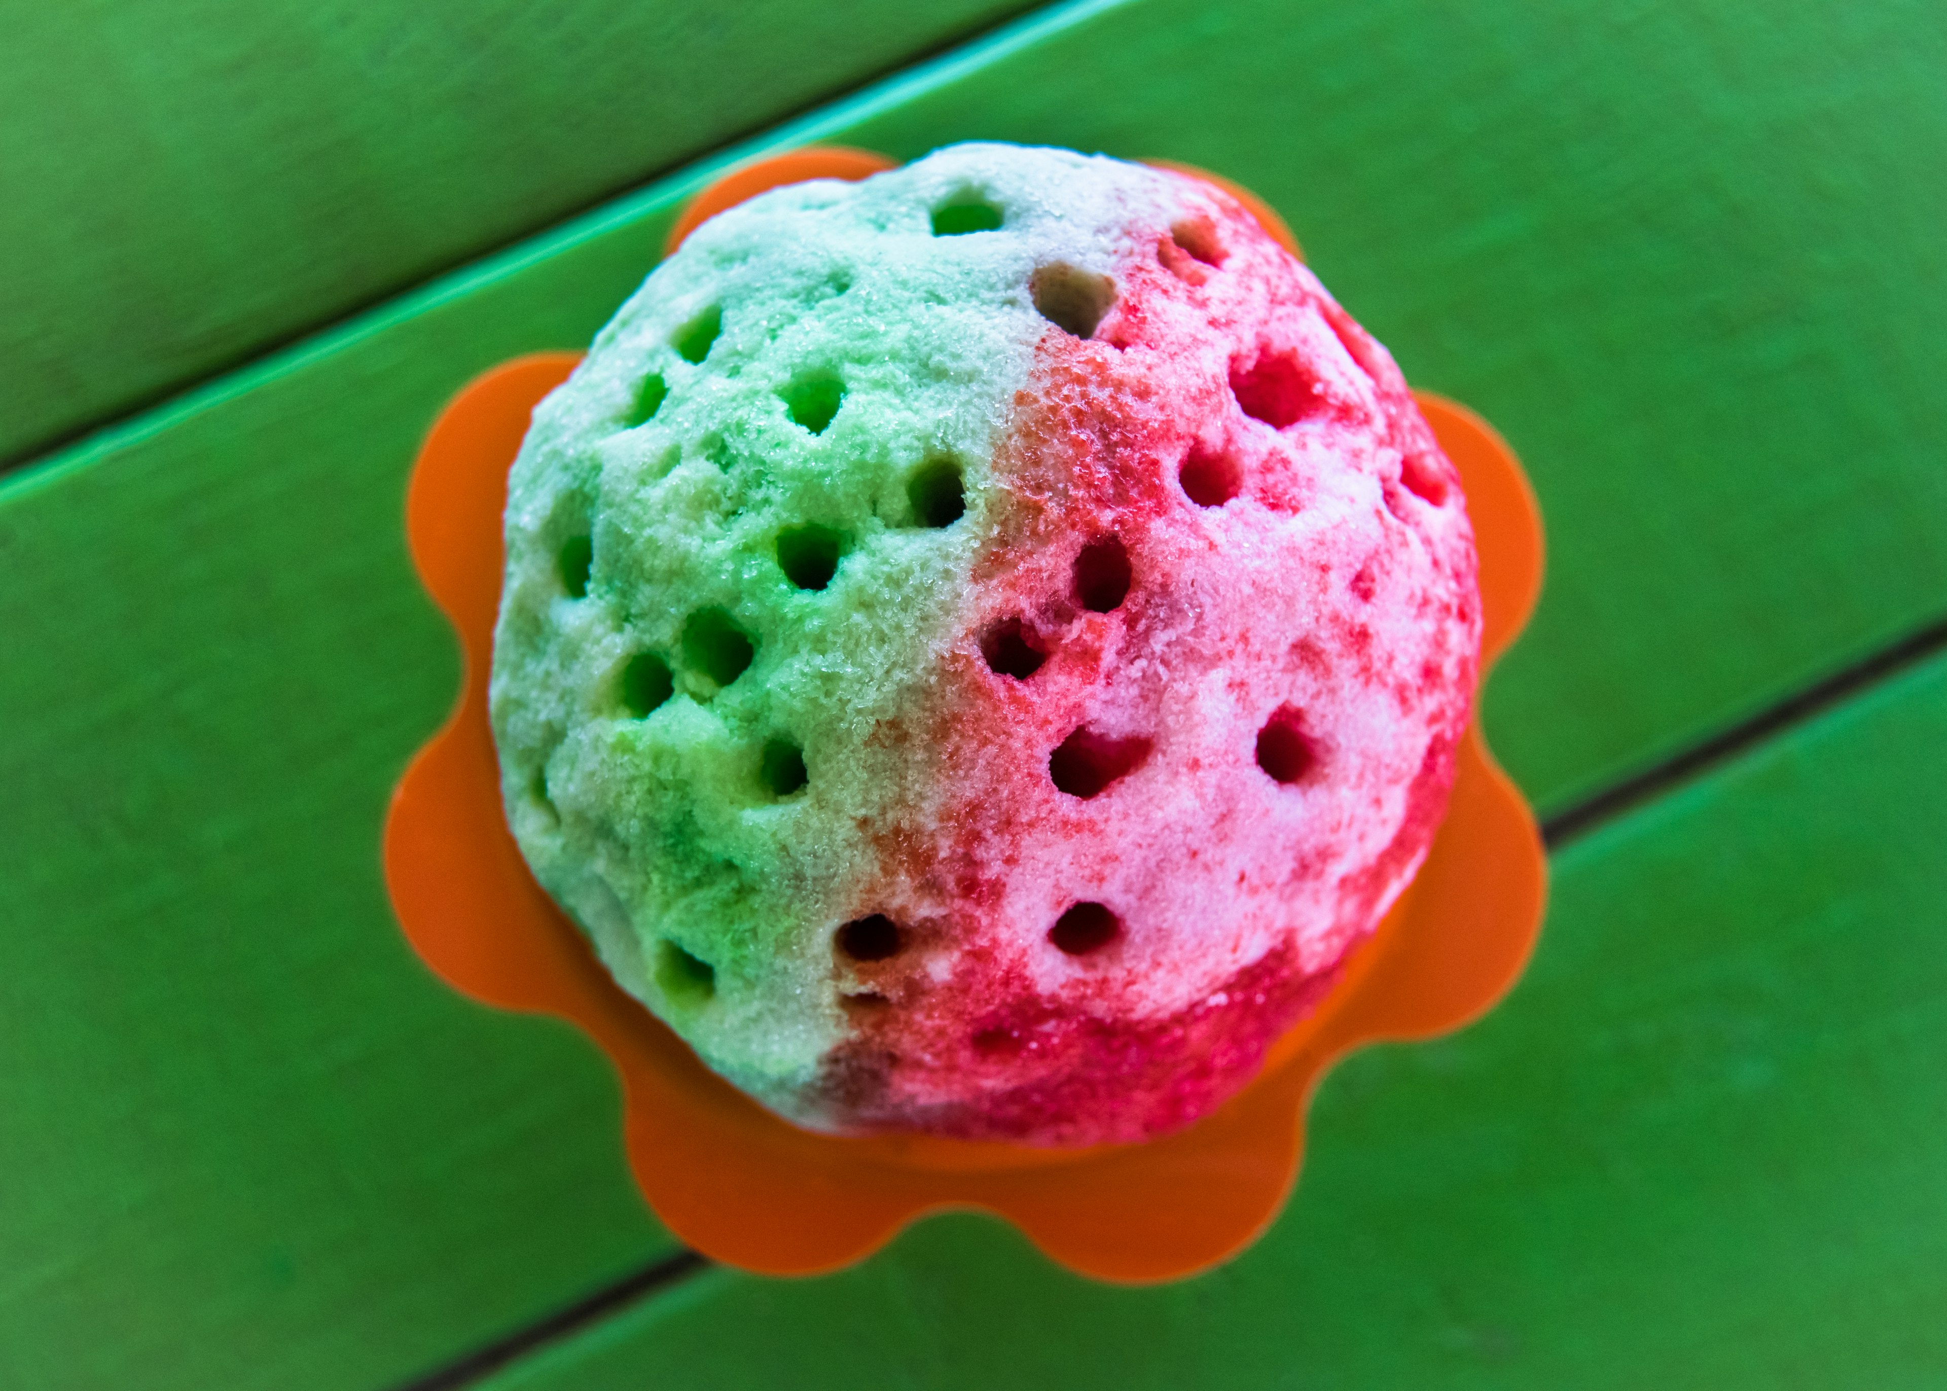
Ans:
[{"label": "red-syrup half of the shaved ice dome", "polygon": [[[960,635],[833,953],[853,1130],[1086,1146],[1190,1124],[1425,857],[1476,680],[1474,544],[1398,368],[1227,195],[1131,212],[993,460]],[[1151,218],[1151,222],[1143,222]]]}]

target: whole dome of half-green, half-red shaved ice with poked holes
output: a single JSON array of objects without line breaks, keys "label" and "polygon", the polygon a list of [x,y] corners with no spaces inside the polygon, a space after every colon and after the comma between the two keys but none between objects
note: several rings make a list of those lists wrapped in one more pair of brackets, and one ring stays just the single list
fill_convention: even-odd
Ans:
[{"label": "whole dome of half-green, half-red shaved ice with poked holes", "polygon": [[514,464],[493,727],[615,978],[822,1130],[1139,1140],[1423,857],[1474,545],[1234,201],[968,144],[703,224]]}]

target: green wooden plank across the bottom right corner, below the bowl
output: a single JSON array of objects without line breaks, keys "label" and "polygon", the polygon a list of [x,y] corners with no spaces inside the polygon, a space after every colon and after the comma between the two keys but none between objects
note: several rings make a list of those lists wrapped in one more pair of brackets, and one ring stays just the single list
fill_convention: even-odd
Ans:
[{"label": "green wooden plank across the bottom right corner, below the bowl", "polygon": [[1947,1368],[1947,660],[1585,842],[1515,996],[1322,1089],[1264,1241],[1178,1286],[999,1223],[713,1272],[489,1379],[1922,1387]]}]

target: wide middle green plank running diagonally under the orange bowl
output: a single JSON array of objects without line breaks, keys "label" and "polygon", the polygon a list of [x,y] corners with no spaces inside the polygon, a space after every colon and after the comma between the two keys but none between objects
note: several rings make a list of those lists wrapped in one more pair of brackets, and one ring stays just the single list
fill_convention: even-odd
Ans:
[{"label": "wide middle green plank running diagonally under the orange bowl", "polygon": [[[1871,25],[1898,16],[1875,14],[1774,35],[1674,4],[1587,33],[1417,0],[1075,6],[771,138],[1106,146],[1279,203],[1415,380],[1488,409],[1534,470],[1554,571],[1489,723],[1558,805],[1947,592],[1928,298],[1947,281],[1916,279],[1941,255],[1922,236],[1941,185],[1892,177],[1937,117],[1916,76],[1931,49],[1916,31],[1881,55]],[[1869,56],[1873,82],[1852,82]],[[1780,70],[1811,86],[1774,86]],[[1700,107],[1686,84],[1737,101]],[[1778,152],[1758,193],[1752,129]],[[1826,142],[1852,162],[1807,173]],[[0,487],[0,775],[23,789],[0,808],[16,1379],[382,1381],[664,1249],[615,1159],[600,1064],[419,976],[376,844],[454,680],[399,542],[417,436],[481,366],[584,343],[707,173]],[[1723,236],[1783,230],[1766,257],[1723,257],[1711,208]],[[1807,220],[1830,244],[1803,244]],[[1807,267],[1822,279],[1783,333],[1752,306]],[[1694,304],[1729,308],[1672,308]],[[292,925],[249,933],[265,916]],[[294,992],[306,972],[333,988]],[[1338,1085],[1449,1054],[1386,1058]]]}]

